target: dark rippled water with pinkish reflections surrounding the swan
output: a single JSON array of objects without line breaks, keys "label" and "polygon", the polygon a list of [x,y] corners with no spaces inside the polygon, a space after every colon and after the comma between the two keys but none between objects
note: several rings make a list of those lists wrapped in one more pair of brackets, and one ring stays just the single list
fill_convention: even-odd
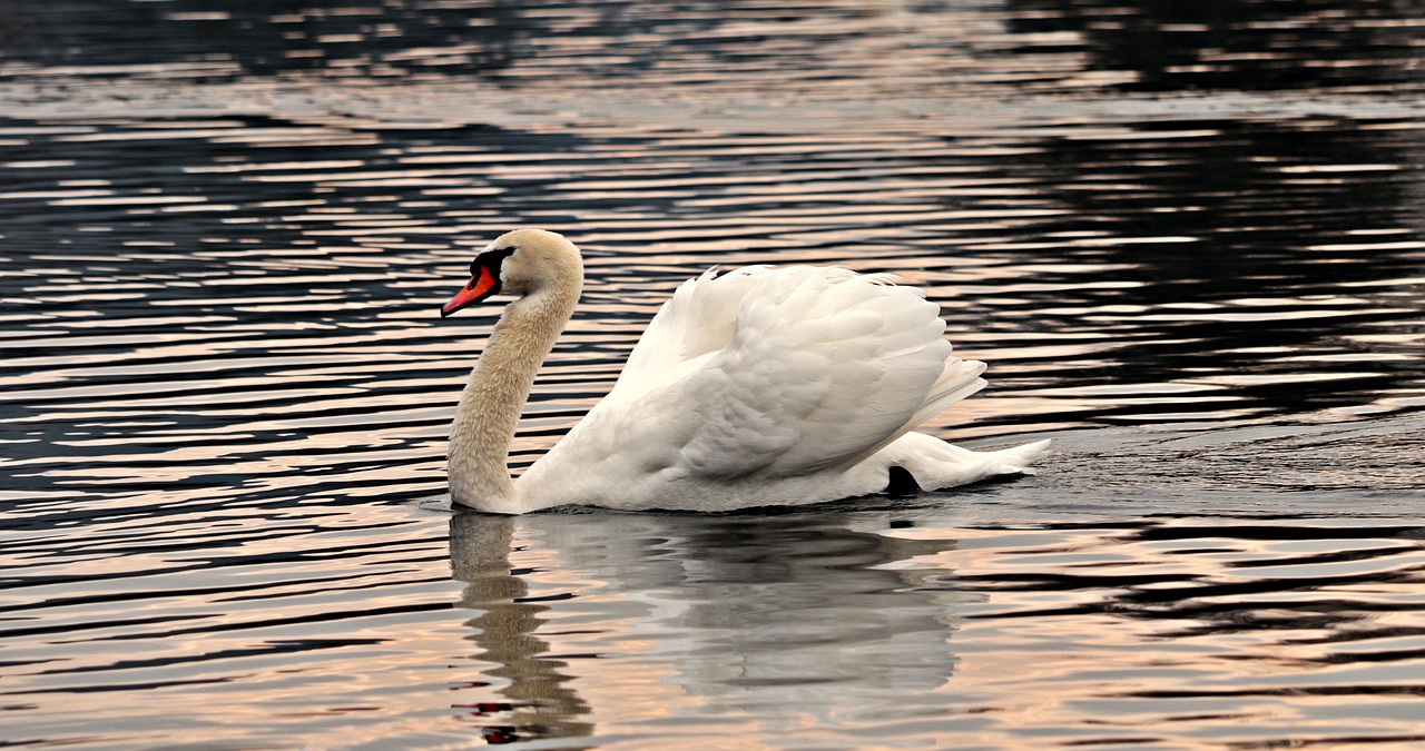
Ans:
[{"label": "dark rippled water with pinkish reflections surrounding the swan", "polygon": [[[1412,1],[0,7],[0,742],[1425,741]],[[896,271],[1036,477],[452,514],[493,309],[584,304],[516,446],[684,278]]]}]

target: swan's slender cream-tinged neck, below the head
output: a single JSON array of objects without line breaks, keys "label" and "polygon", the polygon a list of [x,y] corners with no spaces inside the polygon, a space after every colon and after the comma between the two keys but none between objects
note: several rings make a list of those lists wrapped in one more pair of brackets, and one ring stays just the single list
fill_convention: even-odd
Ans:
[{"label": "swan's slender cream-tinged neck, below the head", "polygon": [[450,426],[450,500],[492,513],[522,513],[510,480],[510,442],[534,375],[579,301],[580,279],[532,292],[506,309],[470,372]]}]

